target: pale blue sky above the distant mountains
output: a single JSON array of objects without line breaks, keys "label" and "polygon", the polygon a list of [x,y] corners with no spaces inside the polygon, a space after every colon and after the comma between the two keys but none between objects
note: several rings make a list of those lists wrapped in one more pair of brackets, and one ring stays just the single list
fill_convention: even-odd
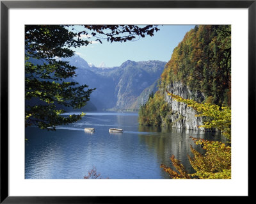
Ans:
[{"label": "pale blue sky above the distant mountains", "polygon": [[[159,25],[159,31],[154,36],[145,36],[133,42],[93,41],[84,47],[72,48],[81,58],[95,67],[119,67],[127,60],[148,61],[160,60],[168,62],[172,57],[173,49],[184,38],[184,35],[195,25]],[[76,26],[77,31],[83,28]],[[89,39],[90,40],[90,39]]]}]

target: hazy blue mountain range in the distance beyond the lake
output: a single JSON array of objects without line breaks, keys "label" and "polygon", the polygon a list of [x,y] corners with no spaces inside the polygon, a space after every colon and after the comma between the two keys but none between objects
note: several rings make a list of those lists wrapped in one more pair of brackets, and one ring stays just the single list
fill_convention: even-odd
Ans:
[{"label": "hazy blue mountain range in the distance beyond the lake", "polygon": [[159,79],[166,65],[163,61],[127,60],[120,67],[99,68],[88,65],[77,55],[64,60],[77,67],[75,81],[87,84],[89,88],[96,88],[90,101],[98,110],[117,111],[138,109],[134,102],[145,88],[152,86]]}]

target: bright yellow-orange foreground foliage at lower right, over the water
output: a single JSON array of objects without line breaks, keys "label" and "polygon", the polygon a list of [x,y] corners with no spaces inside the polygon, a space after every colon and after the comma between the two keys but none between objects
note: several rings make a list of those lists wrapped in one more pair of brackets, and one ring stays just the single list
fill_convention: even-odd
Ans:
[{"label": "bright yellow-orange foreground foliage at lower right, over the water", "polygon": [[231,109],[230,107],[220,107],[211,104],[200,104],[193,100],[184,99],[177,95],[168,92],[174,100],[184,102],[189,107],[193,107],[198,112],[198,116],[207,116],[211,120],[205,122],[202,127],[215,128],[223,132],[227,137],[228,143],[221,143],[219,141],[207,141],[204,139],[193,138],[196,145],[200,145],[205,153],[197,152],[190,146],[193,157],[189,158],[189,162],[196,173],[188,174],[184,166],[174,155],[170,157],[173,166],[177,171],[161,164],[161,168],[166,171],[171,178],[200,178],[200,179],[230,179],[231,178]]}]

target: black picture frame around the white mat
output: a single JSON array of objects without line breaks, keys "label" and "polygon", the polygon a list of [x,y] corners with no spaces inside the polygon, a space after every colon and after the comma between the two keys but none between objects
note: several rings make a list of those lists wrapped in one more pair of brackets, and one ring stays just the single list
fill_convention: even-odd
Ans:
[{"label": "black picture frame around the white mat", "polygon": [[[22,196],[8,194],[8,10],[10,8],[248,8],[248,130],[255,118],[256,0],[253,1],[1,1],[1,200],[0,203],[122,203],[146,201],[122,196]],[[250,139],[250,137],[248,137]],[[250,144],[250,142],[249,142]],[[248,152],[248,156],[250,153]],[[249,157],[248,157],[249,158]],[[249,165],[249,164],[248,164]],[[249,180],[248,180],[249,183]],[[250,191],[248,192],[250,195]],[[187,196],[188,197],[188,196]],[[247,196],[246,196],[247,197]],[[249,197],[249,196],[248,196]],[[163,197],[162,197],[163,198]],[[193,198],[189,198],[193,199]],[[150,198],[150,200],[152,200]],[[158,200],[158,198],[157,198]],[[173,198],[172,198],[173,200]],[[157,203],[160,200],[157,201]]]}]

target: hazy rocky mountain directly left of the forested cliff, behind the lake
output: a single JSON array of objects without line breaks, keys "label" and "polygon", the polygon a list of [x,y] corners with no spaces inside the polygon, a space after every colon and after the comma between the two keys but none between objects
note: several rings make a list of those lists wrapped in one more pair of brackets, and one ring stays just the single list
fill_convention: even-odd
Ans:
[{"label": "hazy rocky mountain directly left of the forested cliff, behind the lake", "polygon": [[159,78],[165,64],[162,61],[125,61],[120,68],[113,70],[111,76],[117,79],[114,109],[133,109],[132,104]]}]

